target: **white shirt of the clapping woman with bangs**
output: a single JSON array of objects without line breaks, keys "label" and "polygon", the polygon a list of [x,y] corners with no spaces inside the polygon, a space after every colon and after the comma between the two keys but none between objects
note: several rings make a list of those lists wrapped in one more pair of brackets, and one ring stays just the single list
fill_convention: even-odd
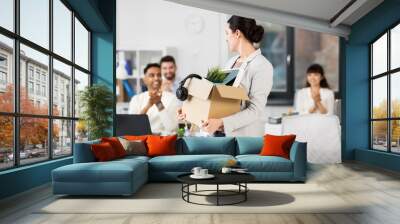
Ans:
[{"label": "white shirt of the clapping woman with bangs", "polygon": [[[335,96],[332,90],[320,88],[321,103],[327,110],[328,115],[334,113]],[[295,108],[300,114],[309,114],[310,109],[314,107],[314,100],[311,95],[311,88],[303,88],[296,93]],[[319,110],[316,113],[321,113]]]}]

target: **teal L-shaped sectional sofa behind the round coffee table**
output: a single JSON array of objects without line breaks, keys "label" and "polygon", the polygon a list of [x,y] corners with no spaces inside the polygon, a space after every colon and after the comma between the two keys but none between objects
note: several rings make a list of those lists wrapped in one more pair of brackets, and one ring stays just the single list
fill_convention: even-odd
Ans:
[{"label": "teal L-shaped sectional sofa behind the round coffee table", "polygon": [[148,181],[176,181],[196,166],[218,172],[230,159],[247,168],[256,181],[306,180],[306,143],[294,142],[290,159],[285,159],[258,155],[262,137],[185,137],[177,141],[177,155],[96,162],[90,145],[98,142],[75,144],[74,163],[52,171],[54,194],[131,195]]}]

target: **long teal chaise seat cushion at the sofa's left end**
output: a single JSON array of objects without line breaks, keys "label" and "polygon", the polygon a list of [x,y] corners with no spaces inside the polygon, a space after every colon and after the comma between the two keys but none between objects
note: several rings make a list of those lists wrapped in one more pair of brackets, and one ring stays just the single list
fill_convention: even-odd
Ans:
[{"label": "long teal chaise seat cushion at the sofa's left end", "polygon": [[108,162],[74,163],[53,170],[53,181],[58,182],[129,182],[134,172],[147,176],[147,163],[140,159]]}]

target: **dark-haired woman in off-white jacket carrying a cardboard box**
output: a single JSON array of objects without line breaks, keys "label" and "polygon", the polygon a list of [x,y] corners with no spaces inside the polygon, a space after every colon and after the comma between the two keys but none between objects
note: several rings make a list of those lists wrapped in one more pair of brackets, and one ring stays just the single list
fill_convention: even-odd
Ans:
[{"label": "dark-haired woman in off-white jacket carrying a cardboard box", "polygon": [[[264,28],[254,19],[234,15],[226,24],[225,34],[229,50],[239,54],[228,61],[226,68],[239,69],[233,86],[245,88],[249,100],[242,102],[240,112],[204,121],[203,129],[210,134],[220,130],[226,136],[263,136],[273,67],[254,44],[262,40]],[[178,116],[185,118],[181,110]]]}]

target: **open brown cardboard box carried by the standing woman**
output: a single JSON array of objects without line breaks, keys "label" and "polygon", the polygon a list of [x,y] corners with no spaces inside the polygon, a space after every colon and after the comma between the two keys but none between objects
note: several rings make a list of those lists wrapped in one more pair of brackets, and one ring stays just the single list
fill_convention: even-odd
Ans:
[{"label": "open brown cardboard box carried by the standing woman", "polygon": [[248,100],[242,87],[215,84],[207,79],[192,78],[186,81],[189,97],[183,102],[186,120],[201,127],[201,121],[223,118],[240,111],[242,100]]}]

